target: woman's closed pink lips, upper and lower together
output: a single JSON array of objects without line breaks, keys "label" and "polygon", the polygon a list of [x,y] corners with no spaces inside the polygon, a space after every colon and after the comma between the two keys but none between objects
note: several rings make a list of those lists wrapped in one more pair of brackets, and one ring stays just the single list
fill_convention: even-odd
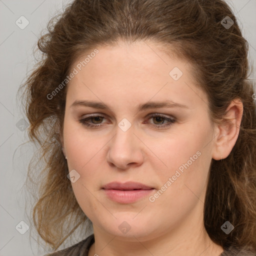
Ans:
[{"label": "woman's closed pink lips, upper and lower together", "polygon": [[132,203],[135,202],[149,193],[154,189],[153,187],[147,186],[138,182],[110,182],[102,187],[106,196],[118,203]]}]

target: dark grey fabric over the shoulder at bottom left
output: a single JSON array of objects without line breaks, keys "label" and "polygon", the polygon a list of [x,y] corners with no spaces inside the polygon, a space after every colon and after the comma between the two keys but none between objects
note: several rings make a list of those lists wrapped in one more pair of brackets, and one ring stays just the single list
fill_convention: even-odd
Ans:
[{"label": "dark grey fabric over the shoulder at bottom left", "polygon": [[44,256],[87,256],[89,247],[94,242],[94,234],[79,241],[78,243],[62,250],[55,251]]}]

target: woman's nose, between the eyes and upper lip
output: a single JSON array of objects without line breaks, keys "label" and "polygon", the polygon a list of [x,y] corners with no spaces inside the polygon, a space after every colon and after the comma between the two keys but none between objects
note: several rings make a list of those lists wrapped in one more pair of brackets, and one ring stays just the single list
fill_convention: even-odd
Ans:
[{"label": "woman's nose, between the eyes and upper lip", "polygon": [[115,136],[109,141],[107,162],[119,169],[136,167],[143,162],[143,143],[133,133],[133,127],[123,131],[116,127]]}]

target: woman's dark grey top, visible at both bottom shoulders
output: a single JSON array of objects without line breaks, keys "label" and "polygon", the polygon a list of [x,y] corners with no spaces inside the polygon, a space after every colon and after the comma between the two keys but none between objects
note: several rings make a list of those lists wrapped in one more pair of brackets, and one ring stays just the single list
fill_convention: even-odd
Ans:
[{"label": "woman's dark grey top, visible at both bottom shoulders", "polygon": [[[50,253],[45,256],[88,256],[89,247],[94,243],[94,235],[91,234],[84,240],[80,242]],[[252,251],[252,249],[247,247],[237,248],[235,246],[229,246],[228,248],[224,248],[224,251],[219,256],[256,256],[256,252]]]}]

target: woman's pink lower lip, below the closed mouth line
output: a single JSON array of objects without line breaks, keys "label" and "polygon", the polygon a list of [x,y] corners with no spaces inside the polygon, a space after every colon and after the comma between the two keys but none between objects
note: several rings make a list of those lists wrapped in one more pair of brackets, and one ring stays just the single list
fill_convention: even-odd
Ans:
[{"label": "woman's pink lower lip, below the closed mouth line", "polygon": [[131,203],[151,193],[152,189],[116,190],[104,189],[108,198],[119,203]]}]

